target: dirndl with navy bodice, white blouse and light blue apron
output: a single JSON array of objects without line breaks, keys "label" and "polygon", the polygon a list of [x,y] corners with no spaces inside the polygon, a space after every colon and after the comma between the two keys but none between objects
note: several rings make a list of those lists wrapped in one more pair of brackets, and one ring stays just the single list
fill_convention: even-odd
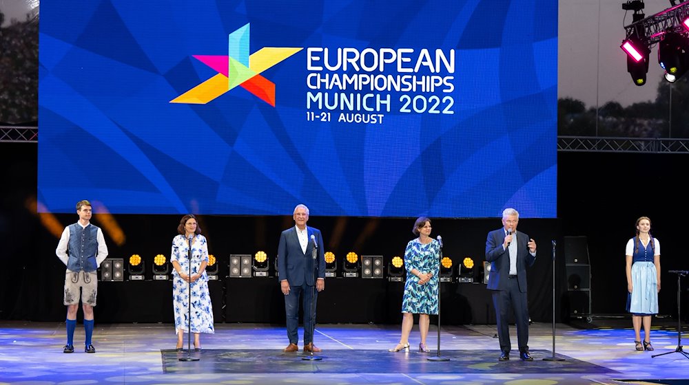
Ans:
[{"label": "dirndl with navy bodice, white blouse and light blue apron", "polygon": [[660,241],[651,237],[644,247],[639,239],[632,238],[627,242],[626,254],[632,256],[632,293],[627,296],[627,311],[636,316],[658,314],[658,275],[653,261],[660,255]]}]

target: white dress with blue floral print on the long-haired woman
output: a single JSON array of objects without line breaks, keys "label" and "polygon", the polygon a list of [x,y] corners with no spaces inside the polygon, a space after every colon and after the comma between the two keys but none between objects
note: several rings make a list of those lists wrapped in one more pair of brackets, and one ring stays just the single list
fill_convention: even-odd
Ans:
[{"label": "white dress with blue floral print on the long-haired woman", "polygon": [[[180,234],[172,239],[172,253],[170,261],[177,261],[181,270],[189,272],[189,241]],[[192,243],[192,275],[198,274],[203,261],[208,262],[208,245],[206,237],[196,234]],[[177,333],[180,329],[189,330],[189,283],[180,278],[177,271],[172,271],[172,306],[174,308],[174,327]],[[213,305],[208,292],[208,276],[203,274],[192,283],[192,333],[215,333],[213,327]]]}]

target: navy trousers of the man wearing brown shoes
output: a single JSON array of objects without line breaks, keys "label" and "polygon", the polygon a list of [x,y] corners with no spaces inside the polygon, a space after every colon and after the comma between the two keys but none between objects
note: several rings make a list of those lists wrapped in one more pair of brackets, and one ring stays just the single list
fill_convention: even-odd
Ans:
[{"label": "navy trousers of the man wearing brown shoes", "polygon": [[[304,344],[313,342],[313,323],[316,322],[316,300],[318,299],[318,293],[315,297],[313,296],[314,288],[306,283],[301,286],[290,286],[289,294],[285,296],[287,338],[290,344],[296,344],[299,341],[299,298],[302,300],[304,309]],[[311,303],[313,303],[313,315]]]}]

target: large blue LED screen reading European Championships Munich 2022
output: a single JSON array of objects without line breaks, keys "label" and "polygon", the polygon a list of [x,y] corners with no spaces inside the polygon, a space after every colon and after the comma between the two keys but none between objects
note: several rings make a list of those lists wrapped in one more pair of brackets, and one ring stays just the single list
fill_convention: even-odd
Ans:
[{"label": "large blue LED screen reading European Championships Munich 2022", "polygon": [[47,1],[41,210],[556,217],[557,0]]}]

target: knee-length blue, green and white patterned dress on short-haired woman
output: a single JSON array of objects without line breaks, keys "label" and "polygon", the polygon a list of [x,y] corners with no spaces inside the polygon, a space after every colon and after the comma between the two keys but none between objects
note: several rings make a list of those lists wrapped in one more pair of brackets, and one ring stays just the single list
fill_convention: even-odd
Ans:
[{"label": "knee-length blue, green and white patterned dress on short-haired woman", "polygon": [[[409,241],[407,250],[404,250],[404,268],[407,270],[407,281],[404,283],[402,313],[438,314],[440,243],[435,239],[426,245],[418,238]],[[411,274],[413,269],[422,273],[433,272],[431,281],[419,285],[419,277]]]}]

